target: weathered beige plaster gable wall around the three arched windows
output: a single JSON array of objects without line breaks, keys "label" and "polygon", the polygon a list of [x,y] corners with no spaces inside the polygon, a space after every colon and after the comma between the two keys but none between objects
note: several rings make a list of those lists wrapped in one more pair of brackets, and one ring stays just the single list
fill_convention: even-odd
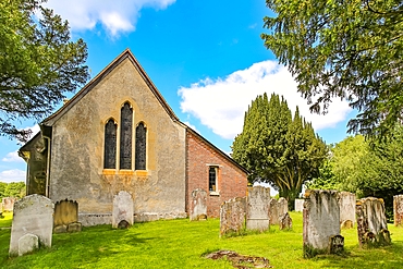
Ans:
[{"label": "weathered beige plaster gable wall around the three arched windows", "polygon": [[[132,170],[119,170],[121,106],[133,106]],[[103,133],[118,123],[117,169],[103,169]],[[147,127],[147,170],[134,171],[135,126]],[[113,195],[129,192],[134,212],[185,212],[185,129],[174,122],[125,59],[54,124],[50,198],[74,199],[84,215],[109,216]]]}]

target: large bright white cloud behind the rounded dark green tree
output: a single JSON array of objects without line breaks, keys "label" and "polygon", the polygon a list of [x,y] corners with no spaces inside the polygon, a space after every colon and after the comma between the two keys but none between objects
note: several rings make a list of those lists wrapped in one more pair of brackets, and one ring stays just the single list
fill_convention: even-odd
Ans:
[{"label": "large bright white cloud behind the rounded dark green tree", "polygon": [[284,66],[276,61],[264,61],[236,71],[225,78],[206,78],[191,87],[181,87],[178,93],[182,98],[182,112],[193,114],[213,133],[228,139],[233,139],[242,132],[248,105],[264,93],[269,97],[271,93],[284,96],[292,112],[298,106],[300,113],[313,123],[315,131],[334,127],[351,111],[346,101],[334,99],[326,115],[313,114],[296,86]]}]

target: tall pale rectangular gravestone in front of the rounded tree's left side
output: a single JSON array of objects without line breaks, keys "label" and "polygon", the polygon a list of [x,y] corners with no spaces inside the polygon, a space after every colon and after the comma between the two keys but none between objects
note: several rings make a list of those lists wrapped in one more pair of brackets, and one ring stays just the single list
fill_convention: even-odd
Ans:
[{"label": "tall pale rectangular gravestone in front of the rounded tree's left side", "polygon": [[246,203],[246,229],[266,231],[270,225],[270,188],[248,187]]}]

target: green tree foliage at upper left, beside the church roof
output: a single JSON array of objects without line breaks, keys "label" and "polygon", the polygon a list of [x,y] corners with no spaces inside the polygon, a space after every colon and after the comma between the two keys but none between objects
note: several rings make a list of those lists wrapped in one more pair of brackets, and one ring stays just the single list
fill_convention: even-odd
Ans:
[{"label": "green tree foliage at upper left, beside the church roof", "polygon": [[45,1],[0,1],[0,135],[20,140],[29,133],[12,121],[42,118],[89,76],[86,44]]}]

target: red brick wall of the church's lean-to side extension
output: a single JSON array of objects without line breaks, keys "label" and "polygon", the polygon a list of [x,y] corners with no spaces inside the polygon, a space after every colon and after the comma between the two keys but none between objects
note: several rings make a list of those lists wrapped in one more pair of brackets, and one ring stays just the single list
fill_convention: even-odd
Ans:
[{"label": "red brick wall of the church's lean-to side extension", "polygon": [[[218,166],[218,193],[210,194],[208,187],[209,166]],[[207,216],[220,217],[220,205],[234,197],[245,197],[247,191],[246,171],[222,151],[215,148],[198,134],[186,132],[186,211],[192,209],[192,191],[207,192]]]}]

